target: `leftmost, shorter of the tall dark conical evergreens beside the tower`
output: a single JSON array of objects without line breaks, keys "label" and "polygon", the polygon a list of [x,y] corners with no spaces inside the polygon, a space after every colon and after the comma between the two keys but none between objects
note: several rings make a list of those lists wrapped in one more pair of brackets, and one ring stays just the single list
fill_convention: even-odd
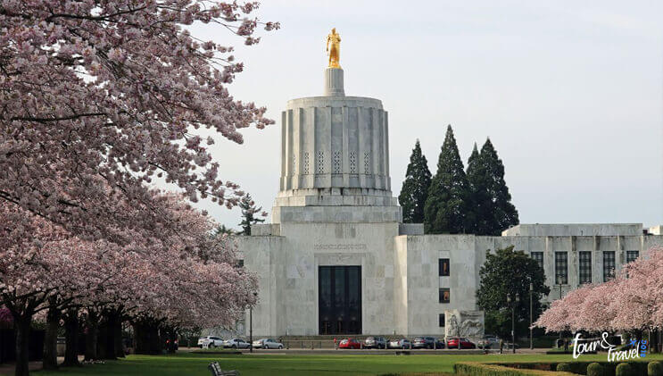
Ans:
[{"label": "leftmost, shorter of the tall dark conical evergreens beside the tower", "polygon": [[402,182],[401,194],[398,202],[402,207],[403,223],[423,223],[424,205],[430,188],[431,173],[428,170],[426,156],[421,154],[419,139],[414,144],[410,164]]}]

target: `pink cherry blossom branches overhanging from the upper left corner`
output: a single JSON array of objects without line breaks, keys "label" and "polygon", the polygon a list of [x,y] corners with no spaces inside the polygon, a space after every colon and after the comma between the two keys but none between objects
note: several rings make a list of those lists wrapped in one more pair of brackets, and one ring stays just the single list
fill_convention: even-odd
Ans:
[{"label": "pink cherry blossom branches overhanging from the upper left corner", "polygon": [[[208,147],[241,143],[239,130],[271,124],[265,108],[228,85],[243,63],[232,46],[199,40],[195,22],[258,43],[256,2],[3,0],[0,3],[0,200],[74,234],[110,237],[131,222],[120,196],[151,205],[162,179],[193,201],[236,205]],[[105,184],[100,184],[104,180]],[[147,212],[149,213],[149,212]],[[144,216],[147,216],[144,213]]]}]

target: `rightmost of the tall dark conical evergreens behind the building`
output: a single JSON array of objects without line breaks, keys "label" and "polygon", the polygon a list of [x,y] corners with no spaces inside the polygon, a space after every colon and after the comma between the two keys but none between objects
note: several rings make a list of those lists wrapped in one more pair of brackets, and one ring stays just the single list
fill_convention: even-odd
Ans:
[{"label": "rightmost of the tall dark conical evergreens behind the building", "polygon": [[500,235],[502,230],[518,224],[518,210],[511,204],[511,195],[504,181],[504,164],[490,138],[481,147],[480,160],[485,170],[485,191],[492,208],[485,213],[485,232],[479,235]]}]

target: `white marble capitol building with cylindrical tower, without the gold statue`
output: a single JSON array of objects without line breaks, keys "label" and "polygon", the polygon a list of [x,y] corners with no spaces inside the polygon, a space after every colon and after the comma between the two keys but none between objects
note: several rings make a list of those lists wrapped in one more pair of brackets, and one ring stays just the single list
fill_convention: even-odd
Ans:
[{"label": "white marble capitol building with cylindrical tower, without the gold statue", "polygon": [[341,69],[325,71],[324,96],[289,101],[281,127],[271,223],[237,238],[244,267],[260,283],[254,337],[443,337],[456,335],[455,328],[477,337],[484,316],[475,294],[486,250],[513,245],[535,257],[553,299],[558,284],[564,294],[584,281],[601,282],[663,243],[659,228],[645,233],[642,224],[423,235],[423,225],[402,223],[392,196],[387,112],[377,99],[344,96]]}]

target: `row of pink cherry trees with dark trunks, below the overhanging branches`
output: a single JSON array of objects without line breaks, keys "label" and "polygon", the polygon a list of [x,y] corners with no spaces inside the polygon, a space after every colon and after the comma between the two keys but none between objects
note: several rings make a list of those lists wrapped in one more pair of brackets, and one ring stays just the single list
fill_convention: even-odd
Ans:
[{"label": "row of pink cherry trees with dark trunks, below the overhanging branches", "polygon": [[[6,239],[0,248],[0,304],[9,308],[19,333],[17,374],[27,371],[29,323],[46,310],[45,355],[55,366],[54,339],[65,311],[73,311],[68,312],[75,315],[70,320],[78,318],[77,310],[86,313],[87,357],[95,359],[104,314],[114,320],[112,328],[118,328],[122,317],[178,327],[216,326],[233,322],[254,304],[257,283],[236,267],[234,243],[227,236],[212,236],[217,225],[177,196],[152,194],[169,225],[155,229],[160,238],[134,230],[123,237],[131,242],[121,245],[81,239],[19,206],[0,205],[0,219],[11,220],[0,227]],[[29,229],[33,238],[21,238],[25,229],[14,223]],[[108,351],[115,350],[112,345]]]}]

